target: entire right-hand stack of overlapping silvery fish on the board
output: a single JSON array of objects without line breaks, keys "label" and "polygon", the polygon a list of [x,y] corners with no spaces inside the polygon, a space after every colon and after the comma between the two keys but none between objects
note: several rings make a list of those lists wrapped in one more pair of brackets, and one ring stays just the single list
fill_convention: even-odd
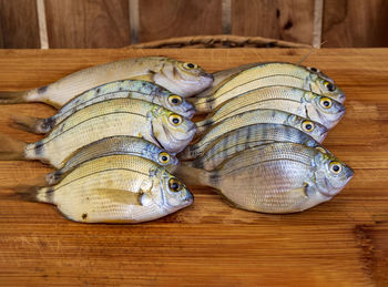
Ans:
[{"label": "entire right-hand stack of overlapping silvery fish on the board", "polygon": [[174,171],[233,206],[295,213],[338,194],[353,170],[320,143],[345,114],[345,94],[316,68],[256,63],[214,74],[192,100],[197,137]]}]

